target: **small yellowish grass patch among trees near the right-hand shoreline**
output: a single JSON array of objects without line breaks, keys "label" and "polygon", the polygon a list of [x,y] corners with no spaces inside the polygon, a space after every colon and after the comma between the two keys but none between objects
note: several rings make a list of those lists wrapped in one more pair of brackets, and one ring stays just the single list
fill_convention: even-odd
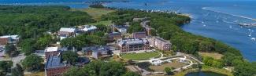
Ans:
[{"label": "small yellowish grass patch among trees near the right-hand shoreline", "polygon": [[214,59],[221,59],[221,57],[223,56],[222,54],[219,54],[217,52],[199,52],[200,56],[210,56],[213,57]]}]

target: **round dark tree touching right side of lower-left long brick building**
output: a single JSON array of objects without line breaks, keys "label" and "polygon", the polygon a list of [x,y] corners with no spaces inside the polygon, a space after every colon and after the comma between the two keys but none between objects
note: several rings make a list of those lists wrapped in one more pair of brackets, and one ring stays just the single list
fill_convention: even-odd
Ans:
[{"label": "round dark tree touching right side of lower-left long brick building", "polygon": [[75,64],[78,60],[76,52],[66,51],[62,53],[62,60],[67,61],[69,64]]}]

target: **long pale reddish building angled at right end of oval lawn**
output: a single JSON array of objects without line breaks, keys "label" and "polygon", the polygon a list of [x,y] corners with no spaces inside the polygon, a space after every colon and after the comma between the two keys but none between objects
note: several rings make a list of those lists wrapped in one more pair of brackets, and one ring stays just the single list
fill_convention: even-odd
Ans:
[{"label": "long pale reddish building angled at right end of oval lawn", "polygon": [[151,37],[149,38],[150,45],[152,45],[154,48],[160,49],[160,50],[165,50],[169,51],[171,49],[171,42],[159,38],[159,37]]}]

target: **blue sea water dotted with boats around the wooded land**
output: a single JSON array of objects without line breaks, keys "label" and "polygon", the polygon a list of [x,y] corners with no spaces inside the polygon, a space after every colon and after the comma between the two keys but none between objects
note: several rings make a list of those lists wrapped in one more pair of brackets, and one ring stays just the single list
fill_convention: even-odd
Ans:
[{"label": "blue sea water dotted with boats around the wooded land", "polygon": [[[0,4],[17,5],[18,2],[18,5],[33,5],[37,3],[40,5],[69,5],[72,8],[78,9],[88,7],[88,4],[83,3],[87,0],[73,1],[0,0]],[[144,5],[145,2],[147,2],[147,6]],[[190,14],[192,18],[191,23],[185,24],[182,27],[184,31],[225,42],[241,50],[244,58],[250,61],[256,61],[256,42],[251,40],[251,38],[256,38],[256,28],[240,27],[237,23],[256,23],[255,20],[250,20],[256,19],[255,4],[255,0],[131,0],[131,2],[106,3],[109,7],[171,10]],[[239,16],[245,16],[247,18]]]}]

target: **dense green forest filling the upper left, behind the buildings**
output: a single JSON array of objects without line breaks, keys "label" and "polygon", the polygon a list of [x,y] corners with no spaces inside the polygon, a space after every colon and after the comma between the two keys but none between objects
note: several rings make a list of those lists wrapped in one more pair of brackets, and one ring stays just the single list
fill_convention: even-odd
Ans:
[{"label": "dense green forest filling the upper left, behind the buildings", "polygon": [[0,35],[19,34],[21,38],[39,38],[45,31],[95,22],[87,13],[57,5],[0,5],[0,17]]}]

